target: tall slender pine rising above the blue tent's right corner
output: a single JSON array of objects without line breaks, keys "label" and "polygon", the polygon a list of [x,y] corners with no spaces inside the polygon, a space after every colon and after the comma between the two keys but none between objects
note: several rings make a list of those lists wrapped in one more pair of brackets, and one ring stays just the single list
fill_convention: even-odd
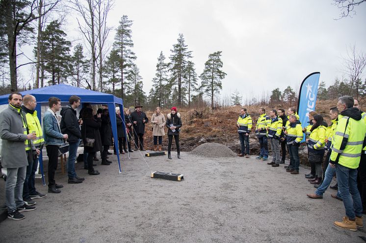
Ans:
[{"label": "tall slender pine rising above the blue tent's right corner", "polygon": [[133,66],[133,61],[136,59],[135,53],[132,51],[132,26],[131,20],[127,15],[122,16],[119,26],[117,28],[117,33],[114,37],[113,46],[118,50],[118,55],[120,57],[120,82],[121,82],[121,98],[124,98],[125,91],[125,75],[128,73],[128,69]]}]

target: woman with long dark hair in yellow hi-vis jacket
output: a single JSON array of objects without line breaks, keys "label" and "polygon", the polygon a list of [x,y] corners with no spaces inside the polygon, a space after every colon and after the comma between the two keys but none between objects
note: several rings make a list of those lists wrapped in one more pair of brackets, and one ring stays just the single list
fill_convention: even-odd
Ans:
[{"label": "woman with long dark hair in yellow hi-vis jacket", "polygon": [[323,169],[323,157],[325,153],[325,132],[327,124],[324,122],[321,115],[314,115],[312,121],[312,128],[310,129],[309,138],[306,139],[308,143],[310,164],[314,164],[315,167],[315,177],[309,179],[311,184],[321,184]]}]

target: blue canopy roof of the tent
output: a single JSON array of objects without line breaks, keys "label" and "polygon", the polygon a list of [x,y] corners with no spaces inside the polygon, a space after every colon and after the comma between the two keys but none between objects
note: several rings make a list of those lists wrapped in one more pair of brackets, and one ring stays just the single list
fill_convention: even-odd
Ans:
[{"label": "blue canopy roof of the tent", "polygon": [[[78,95],[81,102],[90,103],[116,103],[122,105],[122,99],[113,94],[101,93],[89,89],[77,88],[71,85],[59,84],[44,88],[36,88],[20,92],[22,95],[31,94],[36,97],[37,103],[48,102],[52,96],[59,98],[62,102],[68,102],[71,95]],[[0,105],[8,104],[9,95],[0,96]]]}]

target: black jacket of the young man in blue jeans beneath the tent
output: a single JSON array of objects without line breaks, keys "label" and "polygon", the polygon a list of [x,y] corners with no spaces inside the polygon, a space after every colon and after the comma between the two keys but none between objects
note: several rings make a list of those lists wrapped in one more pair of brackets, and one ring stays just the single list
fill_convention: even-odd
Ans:
[{"label": "black jacket of the young man in blue jeans beneath the tent", "polygon": [[76,110],[72,109],[71,106],[66,106],[61,109],[60,114],[62,115],[60,122],[61,133],[66,133],[69,136],[68,142],[80,141],[81,131]]}]

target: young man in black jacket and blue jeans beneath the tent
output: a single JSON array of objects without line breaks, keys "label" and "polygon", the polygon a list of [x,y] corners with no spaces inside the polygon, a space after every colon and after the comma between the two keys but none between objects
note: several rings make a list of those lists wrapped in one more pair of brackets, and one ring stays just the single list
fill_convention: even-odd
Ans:
[{"label": "young man in black jacket and blue jeans beneath the tent", "polygon": [[80,97],[72,95],[69,99],[69,106],[61,109],[62,116],[60,122],[61,133],[67,134],[69,142],[69,159],[67,161],[67,175],[69,177],[69,184],[81,183],[84,178],[78,177],[75,172],[75,160],[80,144],[81,130],[80,125],[82,120],[76,116],[76,109],[80,106]]}]

